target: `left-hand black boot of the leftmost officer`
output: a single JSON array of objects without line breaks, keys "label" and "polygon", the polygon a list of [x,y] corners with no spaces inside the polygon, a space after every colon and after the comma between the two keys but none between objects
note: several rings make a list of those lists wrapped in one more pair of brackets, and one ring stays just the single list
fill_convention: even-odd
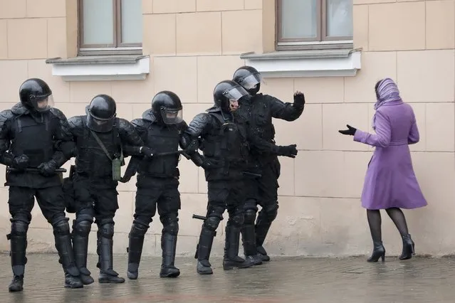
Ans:
[{"label": "left-hand black boot of the leftmost officer", "polygon": [[10,292],[21,292],[23,290],[23,274],[27,263],[27,230],[28,223],[23,221],[13,221],[11,223],[11,233],[6,235],[11,240],[11,267],[13,270],[13,280],[8,289]]}]

